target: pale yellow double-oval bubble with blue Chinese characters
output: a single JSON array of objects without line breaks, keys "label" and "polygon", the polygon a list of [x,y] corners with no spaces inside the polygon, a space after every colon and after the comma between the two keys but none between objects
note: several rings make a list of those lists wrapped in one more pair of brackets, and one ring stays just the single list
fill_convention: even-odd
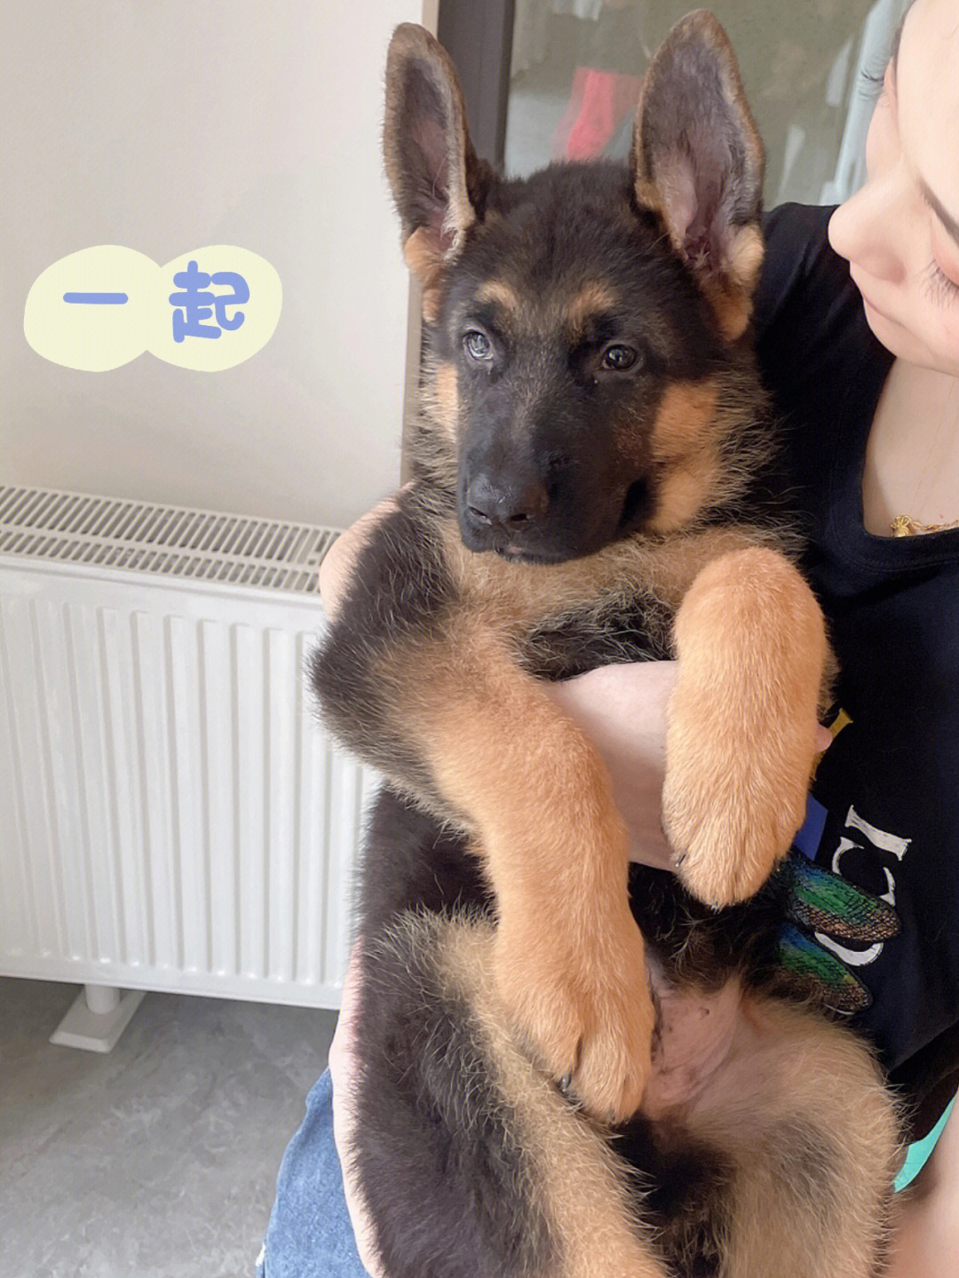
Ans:
[{"label": "pale yellow double-oval bubble with blue Chinese characters", "polygon": [[208,244],[157,266],[132,248],[98,244],[34,281],[23,331],[38,355],[68,368],[105,372],[149,350],[218,372],[266,346],[281,305],[280,276],[249,249]]}]

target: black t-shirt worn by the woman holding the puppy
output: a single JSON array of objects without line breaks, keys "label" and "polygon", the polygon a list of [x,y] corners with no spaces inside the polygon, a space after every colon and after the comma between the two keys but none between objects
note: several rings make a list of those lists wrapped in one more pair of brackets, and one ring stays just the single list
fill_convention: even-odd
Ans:
[{"label": "black t-shirt worn by the woman holding the puppy", "polygon": [[863,527],[866,441],[893,360],[827,244],[830,212],[767,216],[756,308],[849,718],[816,774],[807,855],[898,911],[890,939],[816,939],[872,996],[853,1024],[917,1104],[921,1135],[959,1081],[959,530]]}]

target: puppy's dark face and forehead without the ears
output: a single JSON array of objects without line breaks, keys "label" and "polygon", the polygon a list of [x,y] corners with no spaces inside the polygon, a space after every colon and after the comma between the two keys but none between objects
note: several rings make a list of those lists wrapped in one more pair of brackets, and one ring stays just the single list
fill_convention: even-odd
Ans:
[{"label": "puppy's dark face and forehead without the ears", "polygon": [[487,219],[433,332],[464,543],[553,562],[687,521],[729,357],[661,220],[613,165],[495,187]]}]

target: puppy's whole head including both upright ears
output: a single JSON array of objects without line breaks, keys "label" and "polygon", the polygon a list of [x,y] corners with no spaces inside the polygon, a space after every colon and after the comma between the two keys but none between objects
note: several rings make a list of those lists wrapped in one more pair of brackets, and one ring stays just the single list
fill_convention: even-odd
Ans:
[{"label": "puppy's whole head including both upright ears", "polygon": [[502,181],[448,58],[400,28],[384,153],[424,288],[427,464],[466,547],[555,562],[695,523],[762,257],[762,147],[721,33],[663,47],[628,164]]}]

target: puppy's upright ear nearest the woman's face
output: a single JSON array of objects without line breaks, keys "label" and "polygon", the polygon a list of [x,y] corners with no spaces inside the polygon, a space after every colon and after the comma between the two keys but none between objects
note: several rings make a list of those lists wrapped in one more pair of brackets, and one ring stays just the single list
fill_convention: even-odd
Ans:
[{"label": "puppy's upright ear nearest the woman's face", "polygon": [[687,14],[642,83],[630,156],[641,203],[658,207],[725,335],[752,313],[762,263],[764,150],[725,32]]}]

